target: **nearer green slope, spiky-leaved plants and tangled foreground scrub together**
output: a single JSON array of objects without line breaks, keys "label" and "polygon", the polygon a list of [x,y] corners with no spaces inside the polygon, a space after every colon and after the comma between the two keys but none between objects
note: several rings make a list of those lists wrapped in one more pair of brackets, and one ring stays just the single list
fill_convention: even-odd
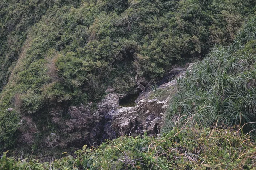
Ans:
[{"label": "nearer green slope, spiky-leaved plants and tangled foreground scrub together", "polygon": [[[241,127],[255,119],[255,46],[256,18],[253,17],[244,24],[229,47],[215,46],[203,61],[187,71],[186,77],[178,82],[179,92],[169,109],[166,129],[169,126],[172,130],[167,133],[154,137],[146,136],[146,133],[136,138],[122,136],[96,149],[85,145],[75,152],[75,157],[63,153],[62,159],[44,163],[38,159],[15,161],[15,158],[4,153],[0,159],[1,167],[92,170],[255,169],[256,144],[249,133],[244,135]],[[221,101],[216,103],[217,99]],[[191,105],[187,104],[189,101]],[[239,107],[231,107],[226,102],[238,103]],[[212,108],[212,103],[219,109]],[[235,112],[237,109],[239,114]],[[179,117],[171,119],[175,116]],[[239,126],[222,125],[221,129],[216,127],[220,123]],[[207,125],[212,127],[203,127]]]}]

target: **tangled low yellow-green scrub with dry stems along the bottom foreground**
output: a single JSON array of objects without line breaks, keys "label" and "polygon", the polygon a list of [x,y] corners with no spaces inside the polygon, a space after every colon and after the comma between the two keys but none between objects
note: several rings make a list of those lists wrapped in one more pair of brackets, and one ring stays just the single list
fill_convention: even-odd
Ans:
[{"label": "tangled low yellow-green scrub with dry stems along the bottom foreground", "polygon": [[66,170],[255,170],[256,148],[250,136],[235,128],[175,128],[161,137],[122,136],[99,148],[76,151],[75,157],[63,153],[62,159],[40,163],[36,159],[0,159],[3,169]]}]

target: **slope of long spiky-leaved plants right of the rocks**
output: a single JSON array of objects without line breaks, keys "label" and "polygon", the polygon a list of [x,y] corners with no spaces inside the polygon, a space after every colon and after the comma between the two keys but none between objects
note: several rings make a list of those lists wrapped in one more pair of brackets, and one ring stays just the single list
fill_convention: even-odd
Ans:
[{"label": "slope of long spiky-leaved plants right of the rocks", "polygon": [[[228,46],[216,45],[186,77],[171,102],[166,128],[177,117],[193,117],[202,125],[240,125],[255,129],[256,122],[256,18],[250,19]],[[252,122],[252,123],[251,123]]]}]

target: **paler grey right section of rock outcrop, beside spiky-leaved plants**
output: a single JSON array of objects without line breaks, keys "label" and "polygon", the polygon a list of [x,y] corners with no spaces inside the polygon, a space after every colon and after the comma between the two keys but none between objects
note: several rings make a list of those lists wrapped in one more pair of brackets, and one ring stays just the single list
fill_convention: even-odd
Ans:
[{"label": "paler grey right section of rock outcrop, beside spiky-leaved plants", "polygon": [[[176,80],[173,80],[160,86],[159,89],[166,89],[176,83]],[[151,91],[141,97],[134,107],[113,109],[105,115],[105,119],[111,122],[110,126],[115,134],[135,136],[144,132],[149,135],[159,133],[169,99],[159,100],[154,97],[151,99],[152,93]]]}]

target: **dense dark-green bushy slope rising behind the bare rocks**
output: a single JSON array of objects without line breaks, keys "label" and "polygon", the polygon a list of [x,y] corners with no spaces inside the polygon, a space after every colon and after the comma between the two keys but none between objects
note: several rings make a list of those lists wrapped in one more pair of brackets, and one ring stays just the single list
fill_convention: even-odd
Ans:
[{"label": "dense dark-green bushy slope rising behind the bare rocks", "polygon": [[255,2],[4,0],[0,7],[0,146],[7,149],[20,116],[41,131],[58,130],[51,111],[65,118],[69,105],[97,100],[108,86],[128,93],[135,74],[161,77],[212,44],[227,44]]}]

